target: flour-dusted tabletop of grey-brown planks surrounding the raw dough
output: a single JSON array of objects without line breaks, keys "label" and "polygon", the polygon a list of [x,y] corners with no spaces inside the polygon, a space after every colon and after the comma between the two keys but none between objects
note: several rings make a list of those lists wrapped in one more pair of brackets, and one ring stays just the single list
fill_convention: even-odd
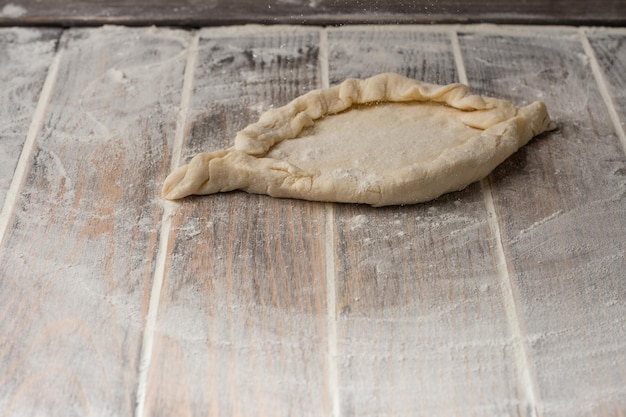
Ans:
[{"label": "flour-dusted tabletop of grey-brown planks surrounding the raw dough", "polygon": [[[1,416],[626,415],[626,30],[0,29]],[[168,172],[347,77],[559,130],[405,207]]]}]

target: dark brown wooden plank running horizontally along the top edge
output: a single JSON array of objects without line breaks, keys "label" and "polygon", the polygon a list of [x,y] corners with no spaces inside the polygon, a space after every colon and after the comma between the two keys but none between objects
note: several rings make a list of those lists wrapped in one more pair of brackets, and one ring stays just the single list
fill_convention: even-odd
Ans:
[{"label": "dark brown wooden plank running horizontally along the top edge", "polygon": [[623,25],[623,0],[21,0],[0,8],[0,25],[188,25],[242,23],[550,23]]}]

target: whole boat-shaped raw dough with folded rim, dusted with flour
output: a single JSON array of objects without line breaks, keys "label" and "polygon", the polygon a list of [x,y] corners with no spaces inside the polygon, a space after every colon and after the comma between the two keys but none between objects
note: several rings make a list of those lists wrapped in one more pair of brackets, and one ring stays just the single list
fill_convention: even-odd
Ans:
[{"label": "whole boat-shaped raw dough with folded rim, dusted with flour", "polygon": [[487,176],[553,129],[541,102],[517,108],[467,86],[397,74],[348,79],[263,114],[229,149],[172,172],[163,196],[244,190],[273,197],[413,204]]}]

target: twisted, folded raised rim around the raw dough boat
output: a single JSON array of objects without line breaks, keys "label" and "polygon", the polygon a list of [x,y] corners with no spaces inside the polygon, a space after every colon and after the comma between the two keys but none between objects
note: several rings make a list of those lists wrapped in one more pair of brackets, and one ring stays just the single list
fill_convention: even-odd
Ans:
[{"label": "twisted, folded raised rim around the raw dough boat", "polygon": [[[353,195],[343,195],[341,187],[337,186],[341,181],[336,178],[328,178],[328,175],[314,177],[289,162],[265,156],[274,145],[297,138],[305,127],[316,120],[349,110],[353,105],[427,101],[467,112],[463,114],[462,121],[483,132],[458,146],[444,149],[432,161],[390,171],[376,183],[380,192],[361,190]],[[463,84],[441,86],[391,73],[364,80],[347,79],[335,87],[310,91],[283,107],[267,111],[258,122],[237,134],[233,147],[196,155],[188,166],[180,167],[168,176],[163,195],[168,199],[178,199],[191,194],[241,189],[273,197],[374,206],[419,203],[461,190],[484,178],[534,135],[552,128],[554,124],[547,116],[545,105],[540,102],[518,109],[506,100],[474,95]],[[495,143],[489,147],[485,146],[486,141]],[[476,152],[476,149],[486,151]],[[227,162],[231,159],[238,162]],[[440,163],[442,159],[447,159],[446,164]],[[210,174],[213,171],[211,166],[221,164],[229,165],[231,171],[219,172],[232,175],[216,178]],[[284,173],[284,176],[273,175],[267,178],[266,183],[255,183],[252,164],[256,168],[270,170],[272,174]],[[194,172],[190,175],[187,168],[192,166]],[[452,175],[459,166],[473,166],[475,170],[472,175]],[[236,180],[231,182],[234,178]],[[314,182],[318,186],[313,187]],[[334,192],[337,189],[340,191]],[[402,190],[398,192],[399,189]],[[329,198],[329,195],[333,196]]]}]

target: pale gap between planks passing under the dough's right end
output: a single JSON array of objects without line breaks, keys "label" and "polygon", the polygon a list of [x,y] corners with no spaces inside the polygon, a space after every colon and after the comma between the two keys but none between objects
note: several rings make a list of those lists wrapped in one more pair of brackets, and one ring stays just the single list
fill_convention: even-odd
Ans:
[{"label": "pale gap between planks passing under the dough's right end", "polygon": [[[459,81],[465,85],[469,85],[457,31],[450,30],[449,33],[452,44],[452,53],[457,67],[457,73],[459,74]],[[480,180],[480,190],[483,196],[485,208],[487,210],[489,228],[491,229],[491,233],[496,243],[495,258],[497,263],[496,267],[498,271],[498,279],[500,281],[500,289],[503,297],[502,301],[504,304],[507,323],[511,331],[517,372],[519,372],[521,379],[520,382],[525,391],[523,392],[523,395],[526,396],[526,398],[523,398],[523,400],[525,400],[525,403],[522,404],[525,407],[525,411],[523,412],[527,413],[527,417],[541,417],[542,413],[539,409],[540,397],[538,384],[531,366],[529,349],[524,339],[525,325],[519,313],[521,307],[518,301],[519,297],[517,296],[518,291],[507,268],[506,254],[504,253],[504,246],[502,244],[502,232],[500,231],[500,225],[498,223],[498,214],[493,200],[493,190],[489,177]]]}]

